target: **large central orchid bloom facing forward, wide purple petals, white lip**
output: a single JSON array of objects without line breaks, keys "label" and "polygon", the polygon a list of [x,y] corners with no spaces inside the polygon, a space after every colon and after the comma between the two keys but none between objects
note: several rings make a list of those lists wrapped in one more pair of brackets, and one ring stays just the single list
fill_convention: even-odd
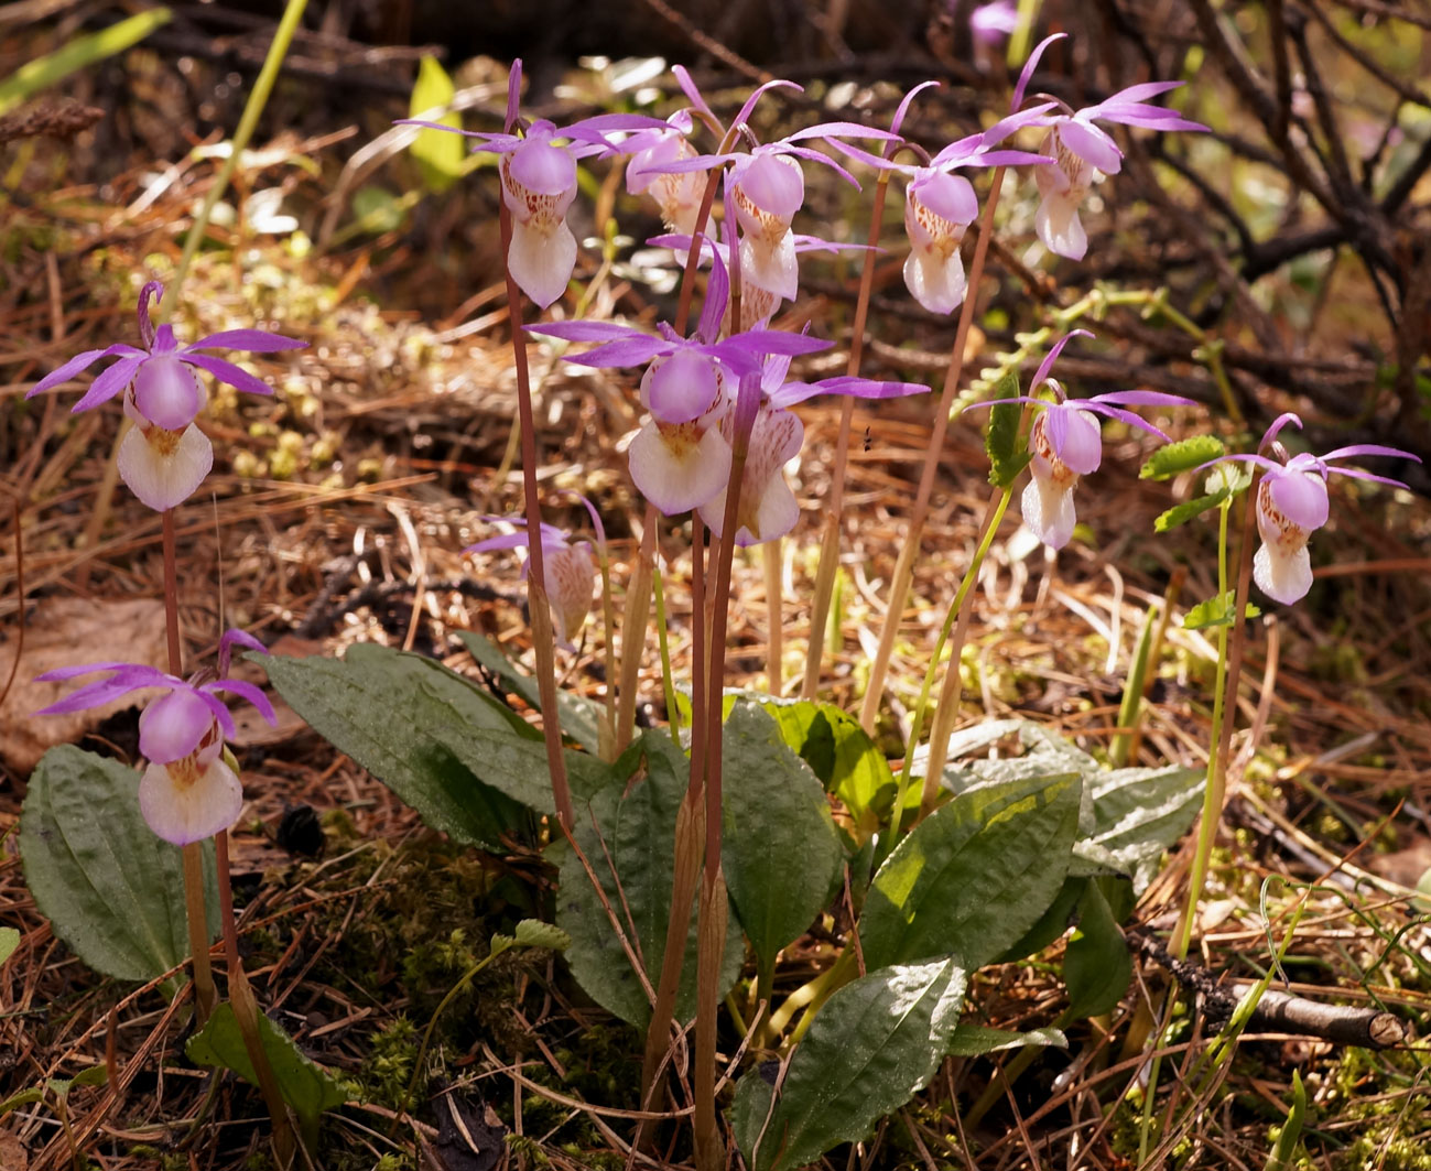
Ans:
[{"label": "large central orchid bloom facing forward, wide purple petals, white lip", "polygon": [[528,326],[572,342],[600,342],[565,361],[584,366],[635,366],[648,362],[641,378],[641,405],[651,417],[631,441],[631,478],[663,514],[700,508],[730,477],[730,441],[721,419],[730,407],[730,382],[758,375],[766,355],[796,356],[826,349],[830,342],[773,329],[747,329],[717,341],[730,278],[720,256],[705,289],[695,334],[680,338],[664,322],[653,336],[614,322],[572,321]]}]

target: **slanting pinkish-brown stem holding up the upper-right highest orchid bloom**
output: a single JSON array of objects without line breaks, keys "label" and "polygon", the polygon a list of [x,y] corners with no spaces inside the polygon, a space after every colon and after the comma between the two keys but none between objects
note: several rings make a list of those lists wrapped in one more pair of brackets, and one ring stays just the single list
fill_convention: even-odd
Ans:
[{"label": "slanting pinkish-brown stem holding up the upper-right highest orchid bloom", "polygon": [[944,450],[944,432],[949,429],[954,391],[959,388],[959,379],[963,378],[964,372],[969,328],[975,319],[979,281],[983,278],[985,259],[989,256],[989,240],[993,239],[993,213],[999,206],[999,192],[1003,190],[1003,175],[1006,170],[1007,167],[1002,166],[995,170],[993,182],[989,185],[989,196],[985,199],[985,213],[979,222],[979,242],[975,245],[973,261],[969,265],[964,306],[959,314],[954,346],[949,356],[949,368],[944,372],[944,388],[939,397],[939,409],[934,414],[934,425],[929,434],[929,447],[924,451],[924,470],[919,477],[914,508],[910,512],[909,527],[904,531],[904,544],[900,548],[899,561],[894,565],[894,577],[890,581],[889,606],[884,610],[884,626],[880,628],[880,644],[874,654],[874,661],[870,664],[869,689],[864,693],[864,704],[860,709],[860,726],[869,733],[874,732],[874,721],[879,719],[880,700],[884,696],[884,676],[889,673],[890,656],[894,653],[894,638],[899,636],[899,624],[904,614],[909,587],[914,580],[914,558],[919,555],[924,520],[929,517],[929,497],[934,491],[934,472],[939,471],[940,457]]}]

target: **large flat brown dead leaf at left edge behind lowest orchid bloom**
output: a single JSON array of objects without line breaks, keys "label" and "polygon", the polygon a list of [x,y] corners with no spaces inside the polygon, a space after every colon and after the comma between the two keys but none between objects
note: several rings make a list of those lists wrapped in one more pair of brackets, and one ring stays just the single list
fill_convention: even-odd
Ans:
[{"label": "large flat brown dead leaf at left edge behind lowest orchid bloom", "polygon": [[[10,674],[17,643],[16,628],[7,628],[0,640],[0,680]],[[124,697],[89,711],[34,716],[77,686],[73,680],[36,683],[37,674],[99,661],[167,667],[163,601],[57,597],[41,598],[34,606],[26,617],[24,653],[14,686],[0,703],[0,762],[13,773],[29,776],[47,749],[73,743],[109,716],[135,706],[133,699]],[[0,1167],[9,1164],[0,1162]]]}]

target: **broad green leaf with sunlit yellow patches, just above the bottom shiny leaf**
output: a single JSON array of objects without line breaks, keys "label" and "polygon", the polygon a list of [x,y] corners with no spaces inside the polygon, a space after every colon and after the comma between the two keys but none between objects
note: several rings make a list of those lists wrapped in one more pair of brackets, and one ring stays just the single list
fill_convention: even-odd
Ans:
[{"label": "broad green leaf with sunlit yellow patches, just above the bottom shiny leaf", "polygon": [[987,784],[920,822],[870,885],[866,965],[953,952],[975,971],[1000,955],[1063,885],[1082,789],[1072,772]]}]

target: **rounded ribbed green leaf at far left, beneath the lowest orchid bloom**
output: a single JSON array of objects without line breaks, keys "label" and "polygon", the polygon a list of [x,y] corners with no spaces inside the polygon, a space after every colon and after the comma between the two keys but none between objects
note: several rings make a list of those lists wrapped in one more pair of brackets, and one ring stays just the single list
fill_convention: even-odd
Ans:
[{"label": "rounded ribbed green leaf at far left, beneath the lowest orchid bloom", "polygon": [[[26,885],[56,936],[90,968],[150,981],[189,955],[183,860],[139,812],[139,773],[73,744],[50,749],[20,813]],[[218,932],[213,845],[205,843],[209,938]]]}]

